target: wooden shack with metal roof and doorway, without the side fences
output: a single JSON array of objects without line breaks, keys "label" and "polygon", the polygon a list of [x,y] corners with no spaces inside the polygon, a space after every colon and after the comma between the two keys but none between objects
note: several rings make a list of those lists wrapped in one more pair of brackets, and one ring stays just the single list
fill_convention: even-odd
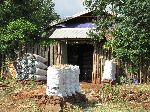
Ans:
[{"label": "wooden shack with metal roof and doorway, without the side fences", "polygon": [[101,83],[103,63],[111,55],[102,49],[103,42],[97,43],[87,34],[96,27],[94,19],[91,12],[85,11],[52,23],[50,28],[54,31],[49,38],[57,41],[53,64],[78,65],[80,81]]}]

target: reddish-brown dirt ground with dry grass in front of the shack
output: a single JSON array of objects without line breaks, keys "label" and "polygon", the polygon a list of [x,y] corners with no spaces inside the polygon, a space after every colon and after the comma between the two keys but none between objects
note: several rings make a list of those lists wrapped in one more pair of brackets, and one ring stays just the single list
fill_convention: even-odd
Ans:
[{"label": "reddish-brown dirt ground with dry grass in front of the shack", "polygon": [[[82,94],[77,93],[72,97],[60,98],[58,96],[47,96],[45,93],[46,85],[43,83],[38,82],[34,88],[25,87],[28,85],[28,81],[14,82],[14,85],[18,83],[22,88],[18,87],[19,89],[13,90],[13,92],[9,92],[9,89],[12,88],[7,84],[0,84],[0,92],[8,91],[8,94],[0,94],[0,112],[27,111],[27,108],[30,110],[34,106],[35,109],[39,107],[44,109],[45,112],[61,112],[62,110],[68,112],[71,105],[83,104],[82,108],[84,108],[91,102],[102,103],[103,101],[103,95],[99,93],[99,89],[103,85],[100,84],[81,82]],[[126,100],[131,108],[142,106],[142,108],[150,110],[150,91],[143,91],[139,88],[136,85],[122,86],[118,98]],[[150,88],[150,85],[145,86],[145,88]],[[111,100],[112,97],[112,94],[109,94],[107,100]],[[35,105],[30,103],[31,101]]]}]

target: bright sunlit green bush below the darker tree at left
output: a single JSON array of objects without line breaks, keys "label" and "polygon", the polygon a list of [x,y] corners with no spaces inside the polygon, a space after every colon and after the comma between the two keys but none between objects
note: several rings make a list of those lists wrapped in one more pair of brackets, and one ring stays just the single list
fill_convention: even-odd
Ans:
[{"label": "bright sunlit green bush below the darker tree at left", "polygon": [[17,49],[19,47],[17,46],[18,43],[21,44],[33,40],[36,31],[36,25],[24,19],[10,22],[0,34],[0,51],[5,53],[6,50],[10,52],[9,50]]}]

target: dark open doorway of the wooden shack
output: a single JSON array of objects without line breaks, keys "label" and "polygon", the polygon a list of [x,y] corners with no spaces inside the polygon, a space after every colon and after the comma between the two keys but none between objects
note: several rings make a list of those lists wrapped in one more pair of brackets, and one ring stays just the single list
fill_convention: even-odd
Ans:
[{"label": "dark open doorway of the wooden shack", "polygon": [[93,46],[90,44],[74,44],[67,46],[68,64],[80,67],[80,81],[92,81]]}]

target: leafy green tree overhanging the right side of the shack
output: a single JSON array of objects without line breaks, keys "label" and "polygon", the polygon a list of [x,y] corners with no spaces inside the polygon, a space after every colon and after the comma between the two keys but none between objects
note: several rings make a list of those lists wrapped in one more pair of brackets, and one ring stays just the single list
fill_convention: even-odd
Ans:
[{"label": "leafy green tree overhanging the right side of the shack", "polygon": [[90,35],[101,41],[110,34],[104,47],[111,49],[113,57],[130,63],[136,73],[141,62],[150,59],[149,0],[85,0],[84,4],[98,16]]}]

